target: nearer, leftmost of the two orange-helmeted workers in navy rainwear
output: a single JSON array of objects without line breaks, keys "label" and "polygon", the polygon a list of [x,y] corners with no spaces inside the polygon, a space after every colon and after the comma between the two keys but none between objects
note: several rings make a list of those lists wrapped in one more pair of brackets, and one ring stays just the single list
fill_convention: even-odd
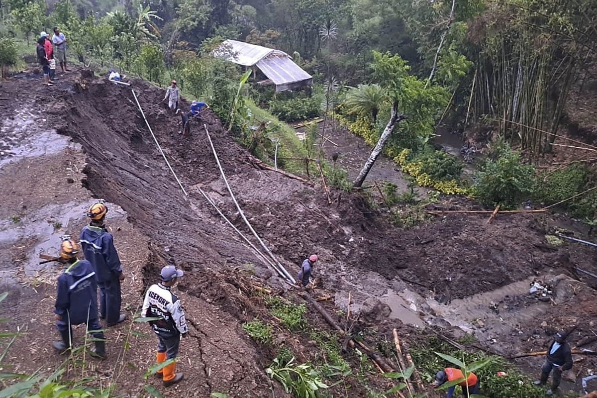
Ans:
[{"label": "nearer, leftmost of the two orange-helmeted workers in navy rainwear", "polygon": [[94,356],[106,358],[106,341],[97,319],[97,284],[93,266],[87,260],[79,260],[78,246],[64,235],[60,245],[59,260],[66,269],[58,277],[56,288],[56,328],[60,341],[54,341],[53,347],[63,353],[72,347],[72,326],[85,323],[87,331],[94,331]]}]

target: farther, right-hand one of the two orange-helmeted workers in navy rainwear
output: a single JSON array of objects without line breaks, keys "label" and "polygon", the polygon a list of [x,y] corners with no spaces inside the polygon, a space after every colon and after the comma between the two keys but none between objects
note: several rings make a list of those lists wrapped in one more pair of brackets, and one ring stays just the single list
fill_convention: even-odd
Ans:
[{"label": "farther, right-hand one of the two orange-helmeted workers in navy rainwear", "polygon": [[100,287],[100,316],[106,320],[108,326],[115,326],[124,322],[127,315],[120,312],[120,283],[124,280],[124,273],[112,234],[104,226],[107,212],[108,208],[103,200],[90,207],[87,215],[91,218],[91,223],[81,231],[81,246],[85,258],[96,271],[97,285]]}]

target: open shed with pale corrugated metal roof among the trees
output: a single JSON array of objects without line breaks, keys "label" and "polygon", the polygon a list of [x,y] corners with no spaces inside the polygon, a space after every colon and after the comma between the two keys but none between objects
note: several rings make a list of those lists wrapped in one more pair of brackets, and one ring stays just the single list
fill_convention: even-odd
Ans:
[{"label": "open shed with pale corrugated metal roof among the trees", "polygon": [[[294,63],[293,58],[284,51],[226,40],[216,48],[214,56],[251,67],[259,83],[274,85],[276,92],[313,85],[313,76]],[[260,80],[260,77],[264,79]]]}]

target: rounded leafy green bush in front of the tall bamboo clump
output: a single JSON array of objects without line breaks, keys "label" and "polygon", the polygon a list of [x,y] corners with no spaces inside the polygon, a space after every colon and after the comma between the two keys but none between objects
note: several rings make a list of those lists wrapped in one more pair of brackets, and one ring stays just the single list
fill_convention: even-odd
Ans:
[{"label": "rounded leafy green bush in front of the tall bamboo clump", "polygon": [[508,146],[497,150],[497,158],[488,158],[475,174],[475,196],[485,206],[516,208],[533,193],[535,168],[521,162],[520,153]]}]

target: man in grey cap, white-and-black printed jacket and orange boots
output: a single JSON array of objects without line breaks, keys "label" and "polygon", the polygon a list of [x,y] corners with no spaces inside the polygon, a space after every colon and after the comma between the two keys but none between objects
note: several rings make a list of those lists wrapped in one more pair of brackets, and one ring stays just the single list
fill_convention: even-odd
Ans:
[{"label": "man in grey cap, white-and-black printed jacket and orange boots", "polygon": [[[181,302],[171,291],[183,274],[174,266],[165,266],[160,273],[162,281],[151,285],[145,294],[141,316],[159,318],[149,322],[158,335],[157,363],[175,359],[179,353],[180,335],[187,337],[189,332]],[[156,374],[162,377],[165,387],[183,380],[182,373],[176,374],[176,362],[164,366]]]}]

